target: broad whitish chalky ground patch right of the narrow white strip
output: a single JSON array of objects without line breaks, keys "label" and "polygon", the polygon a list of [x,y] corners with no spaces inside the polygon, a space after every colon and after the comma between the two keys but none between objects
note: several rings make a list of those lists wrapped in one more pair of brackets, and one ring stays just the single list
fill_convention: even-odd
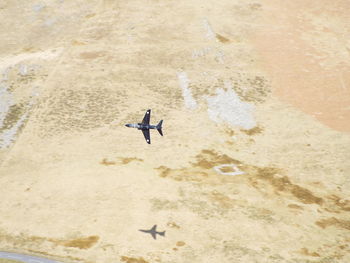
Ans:
[{"label": "broad whitish chalky ground patch right of the narrow white strip", "polygon": [[256,126],[253,117],[254,106],[242,102],[233,90],[230,82],[225,82],[224,89],[217,89],[216,96],[207,97],[208,115],[215,122],[225,121],[232,126],[249,130]]}]

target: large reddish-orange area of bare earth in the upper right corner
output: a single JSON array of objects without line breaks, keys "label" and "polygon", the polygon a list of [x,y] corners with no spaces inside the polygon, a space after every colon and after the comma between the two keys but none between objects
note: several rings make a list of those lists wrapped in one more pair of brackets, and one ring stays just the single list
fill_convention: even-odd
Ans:
[{"label": "large reddish-orange area of bare earth in the upper right corner", "polygon": [[350,132],[350,2],[264,2],[253,38],[274,94]]}]

